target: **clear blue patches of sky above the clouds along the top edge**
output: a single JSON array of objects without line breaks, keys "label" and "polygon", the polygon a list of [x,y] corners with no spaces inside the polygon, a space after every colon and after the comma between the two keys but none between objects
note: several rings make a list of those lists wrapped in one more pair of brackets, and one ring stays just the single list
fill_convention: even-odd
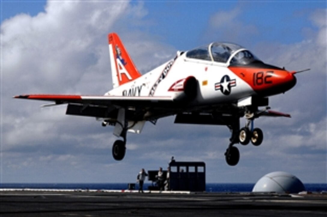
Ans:
[{"label": "clear blue patches of sky above the clouds along the top edge", "polygon": [[[108,1],[110,2],[110,1]],[[137,4],[132,1],[131,4]],[[44,12],[46,1],[2,1],[1,20],[20,13],[31,16]],[[174,47],[187,50],[198,43],[215,40],[226,41],[228,38],[215,36],[203,39],[207,30],[207,21],[219,11],[240,7],[243,10],[238,19],[244,24],[254,24],[261,31],[253,38],[264,38],[282,43],[300,42],[302,27],[312,24],[306,19],[315,8],[326,7],[325,1],[144,1],[147,14],[146,27],[137,26],[150,34],[161,36],[162,40]],[[182,23],[182,25],[181,25]],[[128,25],[128,24],[126,24]],[[169,28],[169,31],[167,31]],[[172,34],[179,31],[182,34]],[[185,37],[187,36],[187,37]]]}]

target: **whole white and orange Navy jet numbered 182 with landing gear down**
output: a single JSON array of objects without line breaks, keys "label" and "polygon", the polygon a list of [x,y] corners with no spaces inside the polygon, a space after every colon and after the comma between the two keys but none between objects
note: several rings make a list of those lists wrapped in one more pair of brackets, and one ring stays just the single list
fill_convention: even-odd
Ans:
[{"label": "whole white and orange Navy jet numbered 182 with landing gear down", "polygon": [[[226,125],[231,130],[226,161],[234,166],[240,154],[234,146],[250,141],[258,146],[262,130],[254,128],[260,116],[283,116],[269,110],[268,96],[281,94],[296,84],[295,74],[263,63],[249,50],[232,43],[211,43],[178,51],[174,59],[142,75],[118,35],[108,35],[113,89],[104,95],[28,94],[14,98],[68,104],[66,114],[91,116],[102,126],[114,126],[122,137],[112,146],[115,160],[126,152],[127,132],[141,133],[146,121],[176,115],[175,123]],[[304,71],[304,70],[303,70]],[[258,107],[265,107],[259,110]],[[247,122],[240,128],[240,118]]]}]

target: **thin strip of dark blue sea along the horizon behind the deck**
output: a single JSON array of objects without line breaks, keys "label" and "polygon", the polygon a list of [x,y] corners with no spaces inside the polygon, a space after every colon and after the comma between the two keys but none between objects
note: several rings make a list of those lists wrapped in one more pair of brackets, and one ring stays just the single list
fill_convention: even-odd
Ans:
[{"label": "thin strip of dark blue sea along the horizon behind the deck", "polygon": [[[144,183],[147,189],[151,183]],[[250,183],[207,183],[206,192],[251,192],[254,184]],[[136,189],[138,184],[136,184]],[[309,192],[327,192],[327,183],[304,184]],[[128,183],[2,183],[2,189],[82,189],[82,190],[123,190],[128,189]]]}]

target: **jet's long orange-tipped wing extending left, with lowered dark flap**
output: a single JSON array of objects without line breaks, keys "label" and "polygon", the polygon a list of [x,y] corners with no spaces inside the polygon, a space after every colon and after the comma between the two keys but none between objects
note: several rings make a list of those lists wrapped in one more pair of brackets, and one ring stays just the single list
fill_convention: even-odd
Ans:
[{"label": "jet's long orange-tipped wing extending left, with lowered dark flap", "polygon": [[[91,95],[48,95],[28,94],[17,95],[14,98],[43,100],[54,102],[45,106],[68,104],[66,114],[91,116],[97,118],[116,118],[117,108],[129,108],[130,119],[142,119],[146,110],[159,111],[173,107],[174,100],[170,96],[91,96]],[[142,112],[141,112],[142,111]],[[140,115],[136,117],[137,115]]]}]

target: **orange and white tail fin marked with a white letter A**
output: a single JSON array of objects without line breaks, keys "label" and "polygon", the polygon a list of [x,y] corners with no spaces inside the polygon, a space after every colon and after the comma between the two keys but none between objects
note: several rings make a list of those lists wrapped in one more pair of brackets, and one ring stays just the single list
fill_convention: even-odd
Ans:
[{"label": "orange and white tail fin marked with a white letter A", "polygon": [[113,88],[141,76],[116,33],[108,34]]}]

